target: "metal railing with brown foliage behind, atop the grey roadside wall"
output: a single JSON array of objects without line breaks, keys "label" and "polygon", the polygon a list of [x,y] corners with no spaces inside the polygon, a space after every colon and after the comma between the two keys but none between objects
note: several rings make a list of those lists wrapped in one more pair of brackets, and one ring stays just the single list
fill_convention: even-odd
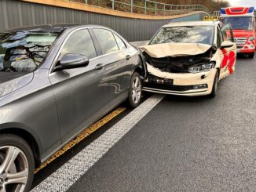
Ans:
[{"label": "metal railing with brown foliage behind, atop the grey roadside wall", "polygon": [[[71,2],[83,2],[87,5],[97,5],[96,1],[92,0],[69,0]],[[129,2],[121,2],[117,0],[104,1],[101,4],[109,9],[115,9],[119,11],[126,11],[130,13],[139,13],[146,15],[155,15],[155,16],[170,16],[170,15],[179,15],[184,13],[191,13],[196,11],[203,11],[210,14],[210,10],[207,9],[204,5],[173,5],[166,4],[162,2],[154,2],[151,0],[144,0],[143,5],[137,5],[133,0]]]}]

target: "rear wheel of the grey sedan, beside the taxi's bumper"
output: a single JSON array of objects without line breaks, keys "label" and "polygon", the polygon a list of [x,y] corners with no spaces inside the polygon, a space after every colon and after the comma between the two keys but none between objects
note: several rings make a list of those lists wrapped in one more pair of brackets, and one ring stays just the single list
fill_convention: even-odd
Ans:
[{"label": "rear wheel of the grey sedan, beside the taxi's bumper", "polygon": [[134,72],[130,78],[130,89],[128,93],[127,103],[130,108],[135,108],[141,103],[142,82],[141,76]]}]

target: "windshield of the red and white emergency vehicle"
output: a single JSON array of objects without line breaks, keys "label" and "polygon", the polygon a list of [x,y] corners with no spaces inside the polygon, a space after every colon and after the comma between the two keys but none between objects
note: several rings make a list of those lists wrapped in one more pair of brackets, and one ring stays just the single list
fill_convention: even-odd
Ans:
[{"label": "windshield of the red and white emergency vehicle", "polygon": [[224,17],[223,24],[231,24],[233,30],[254,30],[253,17],[251,16]]}]

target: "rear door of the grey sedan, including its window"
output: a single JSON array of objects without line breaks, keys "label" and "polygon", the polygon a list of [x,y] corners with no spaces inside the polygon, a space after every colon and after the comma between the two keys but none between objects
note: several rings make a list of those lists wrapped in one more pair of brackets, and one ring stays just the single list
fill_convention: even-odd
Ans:
[{"label": "rear door of the grey sedan, including its window", "polygon": [[132,65],[126,44],[116,34],[105,28],[93,28],[93,34],[101,46],[104,56],[104,70],[107,75],[102,85],[108,86],[110,107],[125,100],[128,96]]}]

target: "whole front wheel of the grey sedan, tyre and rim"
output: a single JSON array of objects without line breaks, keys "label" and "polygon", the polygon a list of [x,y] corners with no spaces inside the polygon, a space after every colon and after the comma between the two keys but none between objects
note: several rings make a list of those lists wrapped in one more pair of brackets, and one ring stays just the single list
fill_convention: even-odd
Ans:
[{"label": "whole front wheel of the grey sedan, tyre and rim", "polygon": [[[9,154],[10,156],[8,156]],[[16,158],[12,154],[16,154]],[[8,159],[8,160],[7,160]],[[4,164],[7,160],[9,164]],[[12,163],[10,163],[12,162]],[[1,168],[2,165],[7,165]],[[27,142],[12,134],[0,135],[0,191],[24,191],[31,189],[34,179],[35,160]],[[17,176],[23,172],[21,176]],[[9,179],[14,178],[19,183],[9,183]],[[18,180],[19,179],[19,180]]]}]

